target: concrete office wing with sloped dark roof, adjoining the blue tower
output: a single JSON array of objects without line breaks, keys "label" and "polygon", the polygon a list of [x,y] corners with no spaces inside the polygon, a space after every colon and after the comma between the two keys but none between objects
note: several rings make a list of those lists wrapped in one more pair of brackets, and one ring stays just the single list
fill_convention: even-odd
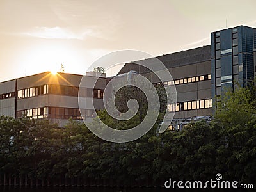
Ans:
[{"label": "concrete office wing with sloped dark roof, adjoining the blue tower", "polygon": [[[173,77],[173,81],[163,82],[164,86],[176,86],[177,103],[168,104],[168,111],[175,111],[174,118],[212,115],[210,45],[158,56],[157,59],[168,68]],[[160,83],[153,72],[135,64],[136,62],[145,63],[147,66],[154,65],[156,60],[126,63],[119,74],[135,70],[153,84]]]}]

